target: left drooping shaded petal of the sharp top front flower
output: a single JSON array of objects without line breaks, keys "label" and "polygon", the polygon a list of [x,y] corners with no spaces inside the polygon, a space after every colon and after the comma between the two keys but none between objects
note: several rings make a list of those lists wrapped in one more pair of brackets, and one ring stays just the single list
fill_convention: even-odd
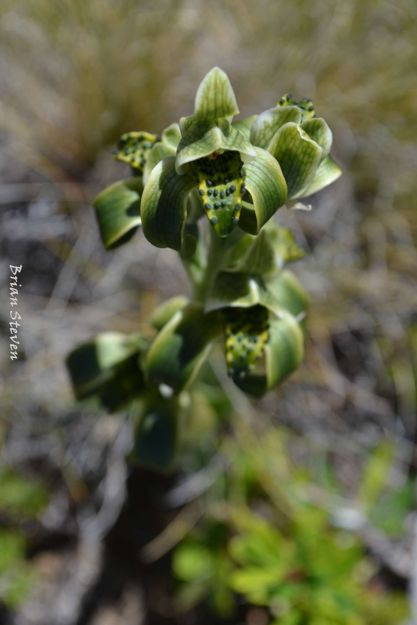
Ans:
[{"label": "left drooping shaded petal of the sharp top front flower", "polygon": [[171,247],[184,259],[191,258],[196,238],[184,232],[187,199],[196,182],[178,176],[175,158],[166,158],[152,170],[141,201],[142,227],[146,239],[156,247]]}]

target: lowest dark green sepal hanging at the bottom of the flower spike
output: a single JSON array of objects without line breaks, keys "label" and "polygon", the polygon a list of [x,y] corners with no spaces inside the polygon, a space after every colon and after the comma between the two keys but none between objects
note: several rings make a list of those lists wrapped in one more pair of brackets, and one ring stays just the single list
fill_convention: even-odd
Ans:
[{"label": "lowest dark green sepal hanging at the bottom of the flower spike", "polygon": [[129,462],[153,471],[172,471],[178,450],[181,406],[178,397],[163,397],[148,391],[138,414],[134,415],[134,444]]}]

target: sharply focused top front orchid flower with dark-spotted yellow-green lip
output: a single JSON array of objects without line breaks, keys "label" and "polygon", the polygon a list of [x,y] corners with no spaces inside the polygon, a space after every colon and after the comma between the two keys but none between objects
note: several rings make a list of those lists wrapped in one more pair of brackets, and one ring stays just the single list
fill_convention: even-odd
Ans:
[{"label": "sharply focused top front orchid flower with dark-spotted yellow-green lip", "polygon": [[[231,123],[237,113],[228,77],[213,68],[198,88],[193,115],[179,121],[176,156],[158,163],[144,187],[143,232],[154,246],[176,249],[184,259],[193,256],[196,238],[186,231],[192,191],[220,237],[231,234],[238,224],[259,232],[284,204],[281,168],[268,151],[248,141],[253,116]],[[249,217],[244,196],[252,199]]]}]

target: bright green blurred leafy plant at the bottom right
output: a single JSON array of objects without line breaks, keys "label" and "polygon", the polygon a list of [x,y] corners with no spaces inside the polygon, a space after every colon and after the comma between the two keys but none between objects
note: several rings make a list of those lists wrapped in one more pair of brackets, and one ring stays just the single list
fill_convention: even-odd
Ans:
[{"label": "bright green blurred leafy plant at the bottom right", "polygon": [[[279,429],[253,441],[252,451],[234,441],[225,446],[234,462],[226,464],[223,480],[209,488],[203,519],[173,552],[179,609],[208,601],[214,612],[230,617],[243,601],[264,607],[276,625],[403,622],[409,613],[404,594],[387,592],[381,585],[378,565],[358,536],[331,523],[334,509],[326,511],[309,501],[315,481],[332,507],[341,501],[347,506],[331,467],[320,482],[306,466],[294,466],[285,451],[292,439]],[[393,466],[392,453],[386,450],[386,445],[375,450],[363,467],[356,499],[350,501],[353,510],[367,511],[371,518],[387,491],[383,477]],[[333,495],[325,489],[329,475]],[[279,502],[266,487],[270,479],[281,481]],[[366,499],[364,507],[368,493],[373,499]],[[405,511],[402,507],[401,513]],[[241,599],[236,601],[236,596]]]}]

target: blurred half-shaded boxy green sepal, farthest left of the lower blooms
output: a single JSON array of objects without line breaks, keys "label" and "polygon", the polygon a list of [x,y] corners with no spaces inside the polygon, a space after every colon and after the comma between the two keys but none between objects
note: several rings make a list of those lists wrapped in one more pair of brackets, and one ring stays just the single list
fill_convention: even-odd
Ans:
[{"label": "blurred half-shaded boxy green sepal, farthest left of the lower blooms", "polygon": [[74,349],[66,360],[76,399],[97,397],[110,411],[144,391],[139,356],[148,342],[138,334],[103,332]]}]

